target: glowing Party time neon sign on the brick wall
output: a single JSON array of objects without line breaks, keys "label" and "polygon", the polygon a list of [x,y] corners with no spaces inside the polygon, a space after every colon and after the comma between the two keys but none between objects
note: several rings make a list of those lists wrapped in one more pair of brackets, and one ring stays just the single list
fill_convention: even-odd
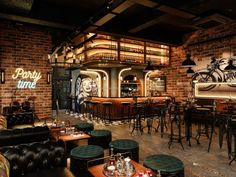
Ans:
[{"label": "glowing Party time neon sign on the brick wall", "polygon": [[12,79],[17,81],[17,88],[29,88],[35,89],[36,84],[42,77],[40,72],[37,71],[25,71],[23,68],[16,68],[15,73],[11,76]]}]

